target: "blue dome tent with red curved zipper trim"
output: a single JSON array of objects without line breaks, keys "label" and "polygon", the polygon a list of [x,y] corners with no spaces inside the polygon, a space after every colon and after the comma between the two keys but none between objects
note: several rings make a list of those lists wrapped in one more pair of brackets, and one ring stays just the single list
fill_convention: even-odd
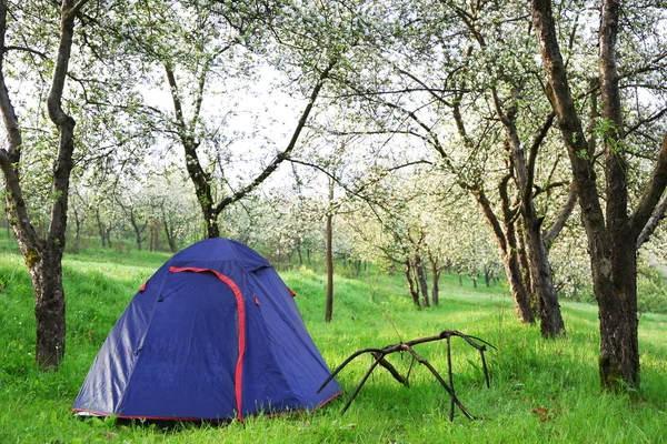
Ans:
[{"label": "blue dome tent with red curved zipper trim", "polygon": [[148,420],[242,420],[313,410],[340,394],[293,293],[250,248],[208,239],[139,290],[100,349],[73,411]]}]

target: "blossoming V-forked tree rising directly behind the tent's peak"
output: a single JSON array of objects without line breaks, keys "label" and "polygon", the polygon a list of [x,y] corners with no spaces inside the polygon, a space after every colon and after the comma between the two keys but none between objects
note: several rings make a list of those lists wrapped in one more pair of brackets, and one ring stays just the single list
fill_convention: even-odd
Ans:
[{"label": "blossoming V-forked tree rising directly behind the tent's peak", "polygon": [[[341,50],[334,46],[312,48],[312,42],[301,41],[318,40],[318,34],[328,32],[318,17],[323,10],[289,1],[181,1],[179,6],[158,2],[160,13],[138,13],[138,27],[151,32],[135,33],[131,39],[133,51],[152,64],[149,71],[165,73],[166,81],[156,83],[169,94],[171,110],[143,107],[142,112],[159,121],[156,127],[160,127],[162,134],[182,148],[206,235],[212,238],[220,234],[220,214],[256,190],[295,150]],[[246,98],[235,97],[235,89],[247,89],[257,80],[258,72],[270,71],[271,63],[300,71],[290,82],[305,87],[305,104],[285,147],[278,150],[271,143],[260,147],[261,167],[247,174],[249,179],[238,180],[238,168],[243,162],[232,162],[231,149],[247,134],[230,128],[229,122],[245,112],[239,102]],[[266,110],[265,115],[256,115],[257,120],[262,118],[268,118]],[[248,120],[242,124],[248,125]],[[257,144],[259,137],[253,138],[241,150],[246,154],[257,151],[256,147],[248,147]]]}]

